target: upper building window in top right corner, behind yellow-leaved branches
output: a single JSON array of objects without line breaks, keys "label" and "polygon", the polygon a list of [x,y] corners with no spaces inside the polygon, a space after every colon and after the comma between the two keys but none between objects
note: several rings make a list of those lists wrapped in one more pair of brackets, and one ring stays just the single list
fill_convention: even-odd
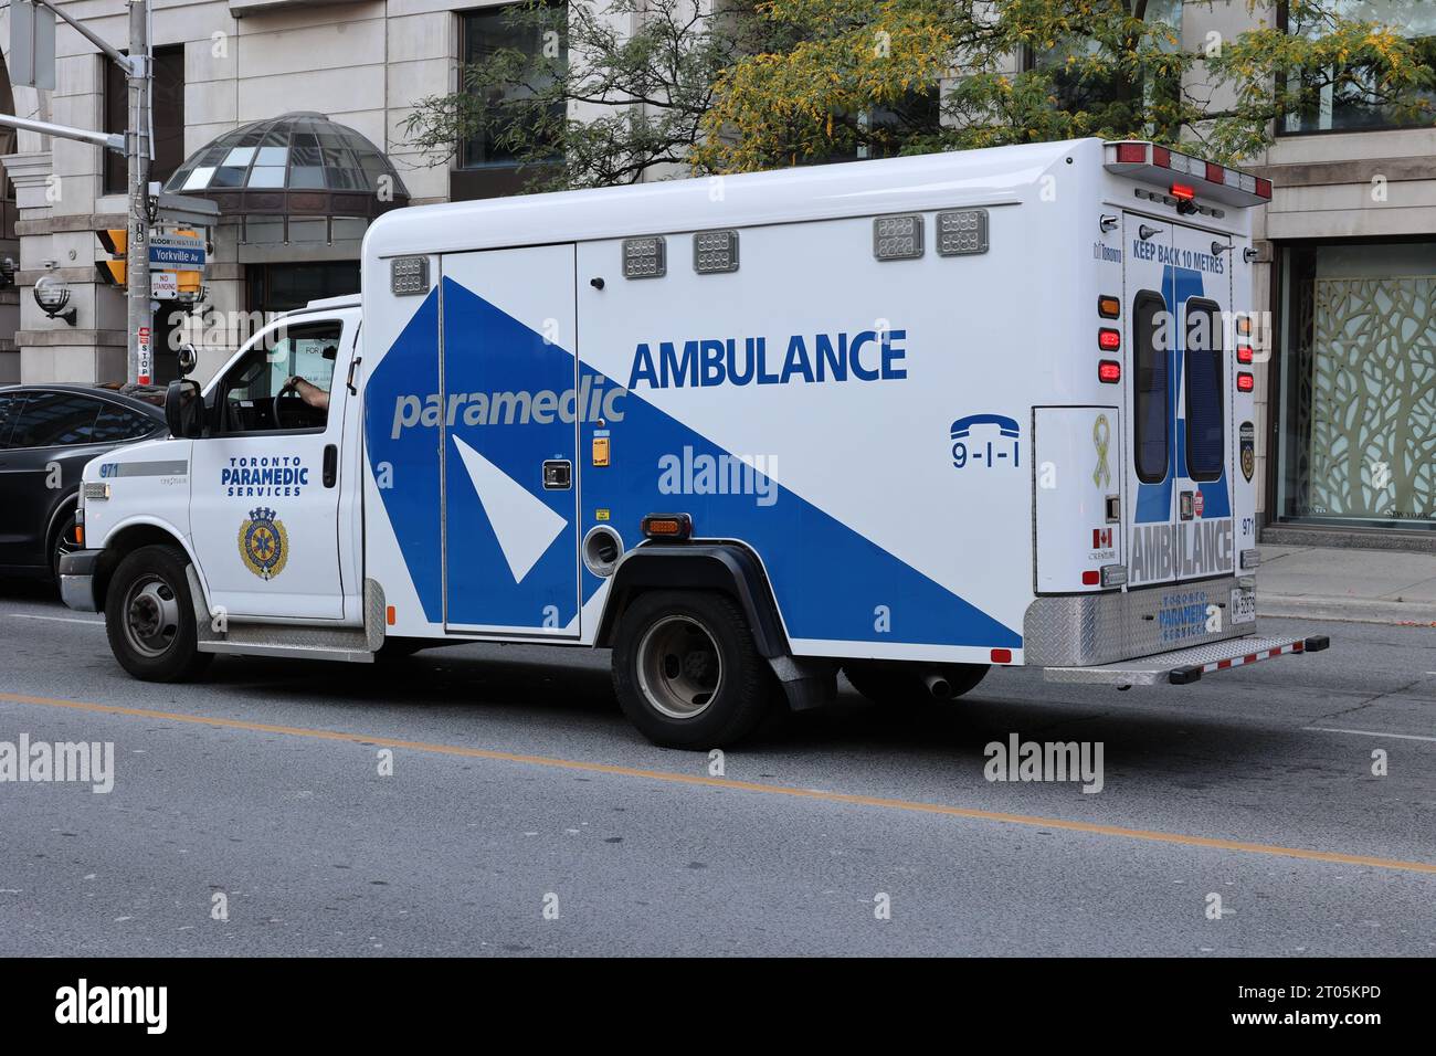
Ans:
[{"label": "upper building window in top right corner, behind yellow-leaved branches", "polygon": [[[1363,19],[1391,26],[1399,34],[1414,40],[1426,63],[1436,63],[1436,3],[1419,0],[1407,3],[1386,3],[1384,0],[1330,0],[1323,4],[1348,19]],[[1287,32],[1295,36],[1317,37],[1325,30],[1324,11],[1313,10],[1310,22],[1301,22],[1300,14],[1288,13]],[[1351,132],[1371,128],[1403,128],[1430,125],[1430,114],[1402,114],[1386,106],[1377,92],[1373,78],[1364,75],[1360,66],[1343,70],[1354,73],[1351,79],[1337,78],[1337,69],[1298,70],[1288,80],[1288,88],[1301,89],[1304,105],[1278,122],[1282,135],[1304,132]],[[1436,92],[1423,92],[1422,98],[1436,105]]]}]

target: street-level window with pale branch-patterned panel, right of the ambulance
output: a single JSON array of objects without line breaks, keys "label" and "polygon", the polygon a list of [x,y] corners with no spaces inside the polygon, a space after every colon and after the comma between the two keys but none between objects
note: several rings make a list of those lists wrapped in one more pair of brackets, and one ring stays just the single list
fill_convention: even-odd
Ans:
[{"label": "street-level window with pale branch-patterned panel, right of the ambulance", "polygon": [[1277,516],[1436,530],[1436,241],[1292,246],[1282,264]]}]

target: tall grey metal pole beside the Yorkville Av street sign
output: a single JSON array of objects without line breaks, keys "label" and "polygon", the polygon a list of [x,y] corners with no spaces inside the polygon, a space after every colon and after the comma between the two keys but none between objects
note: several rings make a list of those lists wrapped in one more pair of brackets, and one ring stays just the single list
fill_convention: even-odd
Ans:
[{"label": "tall grey metal pole beside the Yorkville Av street sign", "polygon": [[125,279],[129,297],[131,382],[154,381],[154,312],[149,306],[149,3],[129,0],[129,236]]}]

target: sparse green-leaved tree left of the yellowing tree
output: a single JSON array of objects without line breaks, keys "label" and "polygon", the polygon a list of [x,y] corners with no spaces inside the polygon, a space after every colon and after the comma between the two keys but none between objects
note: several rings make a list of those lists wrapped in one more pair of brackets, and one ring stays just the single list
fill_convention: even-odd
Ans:
[{"label": "sparse green-leaved tree left of the yellowing tree", "polygon": [[510,34],[460,70],[461,91],[419,99],[404,122],[434,164],[484,136],[527,170],[526,190],[603,187],[655,165],[688,165],[722,72],[784,47],[752,0],[530,0]]}]

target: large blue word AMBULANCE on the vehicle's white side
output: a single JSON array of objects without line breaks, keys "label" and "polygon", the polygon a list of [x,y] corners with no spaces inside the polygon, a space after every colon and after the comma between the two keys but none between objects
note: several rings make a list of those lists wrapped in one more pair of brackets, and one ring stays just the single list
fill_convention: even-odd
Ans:
[{"label": "large blue word AMBULANCE on the vehicle's white side", "polygon": [[[863,330],[860,333],[819,333],[811,342],[801,333],[787,341],[787,351],[770,359],[767,338],[728,338],[727,341],[675,341],[653,346],[643,343],[633,352],[629,389],[639,382],[649,388],[698,388],[709,385],[788,385],[826,381],[892,381],[908,376],[903,359],[908,351],[898,342],[906,330]],[[775,368],[775,369],[774,369]]]}]

